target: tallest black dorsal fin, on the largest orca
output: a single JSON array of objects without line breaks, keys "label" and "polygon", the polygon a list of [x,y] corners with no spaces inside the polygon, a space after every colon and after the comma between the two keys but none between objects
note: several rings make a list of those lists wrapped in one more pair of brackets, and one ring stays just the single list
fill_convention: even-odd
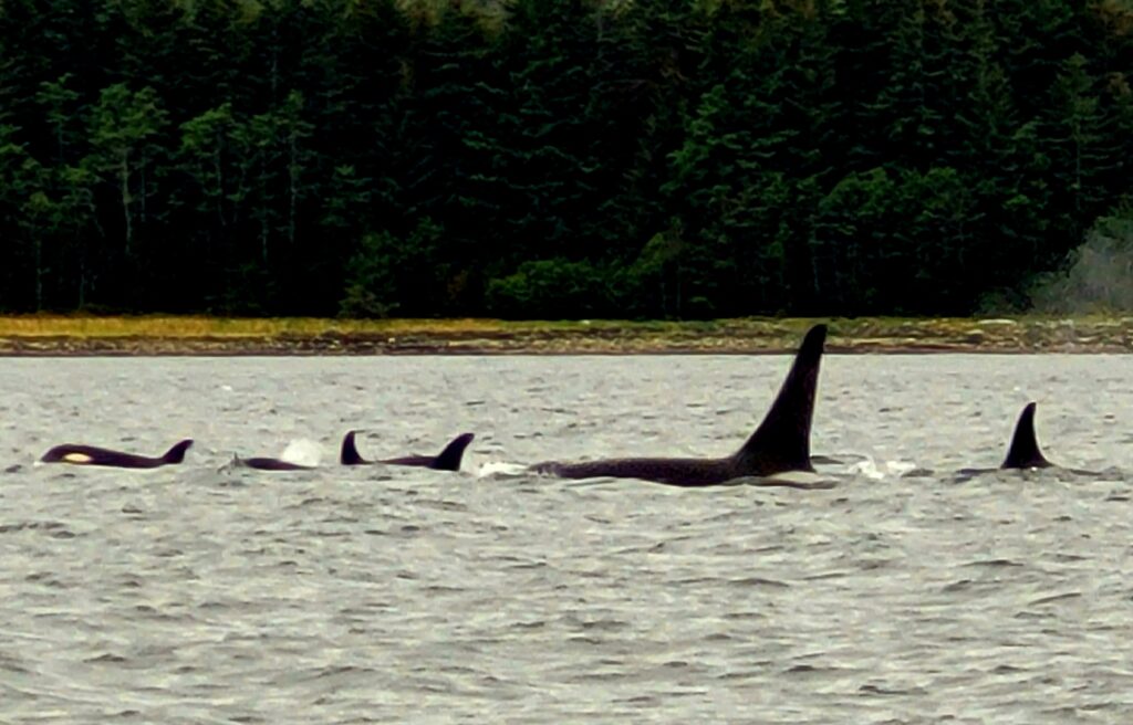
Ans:
[{"label": "tallest black dorsal fin, on the largest orca", "polygon": [[818,366],[823,361],[826,326],[810,328],[794,356],[763,423],[733,459],[743,476],[769,476],[784,471],[813,471],[810,465],[810,421],[815,413]]}]

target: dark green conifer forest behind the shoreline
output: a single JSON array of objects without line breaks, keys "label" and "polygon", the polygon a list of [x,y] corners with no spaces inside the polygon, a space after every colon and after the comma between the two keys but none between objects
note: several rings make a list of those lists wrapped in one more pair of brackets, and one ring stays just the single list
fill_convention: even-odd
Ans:
[{"label": "dark green conifer forest behind the shoreline", "polygon": [[0,310],[1021,304],[1131,71],[1127,0],[2,0]]}]

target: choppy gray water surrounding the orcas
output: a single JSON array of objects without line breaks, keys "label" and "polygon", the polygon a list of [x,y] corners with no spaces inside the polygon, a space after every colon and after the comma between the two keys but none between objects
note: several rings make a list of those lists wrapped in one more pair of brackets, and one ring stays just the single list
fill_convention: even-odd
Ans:
[{"label": "choppy gray water surrounding the orcas", "polygon": [[[828,356],[830,490],[493,473],[731,452],[789,362],[6,360],[0,722],[1128,722],[1128,357]],[[1098,473],[957,475],[1030,399]],[[344,469],[349,428],[477,439],[458,474]],[[296,439],[321,468],[225,465]]]}]

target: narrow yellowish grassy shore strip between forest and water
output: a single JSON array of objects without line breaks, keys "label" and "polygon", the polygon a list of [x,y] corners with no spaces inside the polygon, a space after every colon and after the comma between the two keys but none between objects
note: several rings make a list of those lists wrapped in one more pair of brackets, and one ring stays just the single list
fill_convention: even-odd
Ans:
[{"label": "narrow yellowish grassy shore strip between forest and water", "polygon": [[[210,317],[0,318],[0,355],[639,354],[793,351],[816,320],[702,322],[335,320]],[[828,349],[1130,352],[1133,318],[830,319]]]}]

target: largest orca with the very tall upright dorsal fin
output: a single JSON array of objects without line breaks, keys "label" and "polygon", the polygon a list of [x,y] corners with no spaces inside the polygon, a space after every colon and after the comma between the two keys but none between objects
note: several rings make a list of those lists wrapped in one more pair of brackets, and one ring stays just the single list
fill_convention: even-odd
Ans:
[{"label": "largest orca with the very tall upright dorsal fin", "polygon": [[[810,461],[810,423],[825,343],[826,326],[816,325],[810,328],[770,409],[748,441],[731,456],[608,458],[581,463],[552,460],[536,464],[529,471],[560,478],[640,478],[675,486],[710,486],[736,478],[766,477],[796,471],[813,472]],[[784,482],[783,485],[794,484]]]}]

